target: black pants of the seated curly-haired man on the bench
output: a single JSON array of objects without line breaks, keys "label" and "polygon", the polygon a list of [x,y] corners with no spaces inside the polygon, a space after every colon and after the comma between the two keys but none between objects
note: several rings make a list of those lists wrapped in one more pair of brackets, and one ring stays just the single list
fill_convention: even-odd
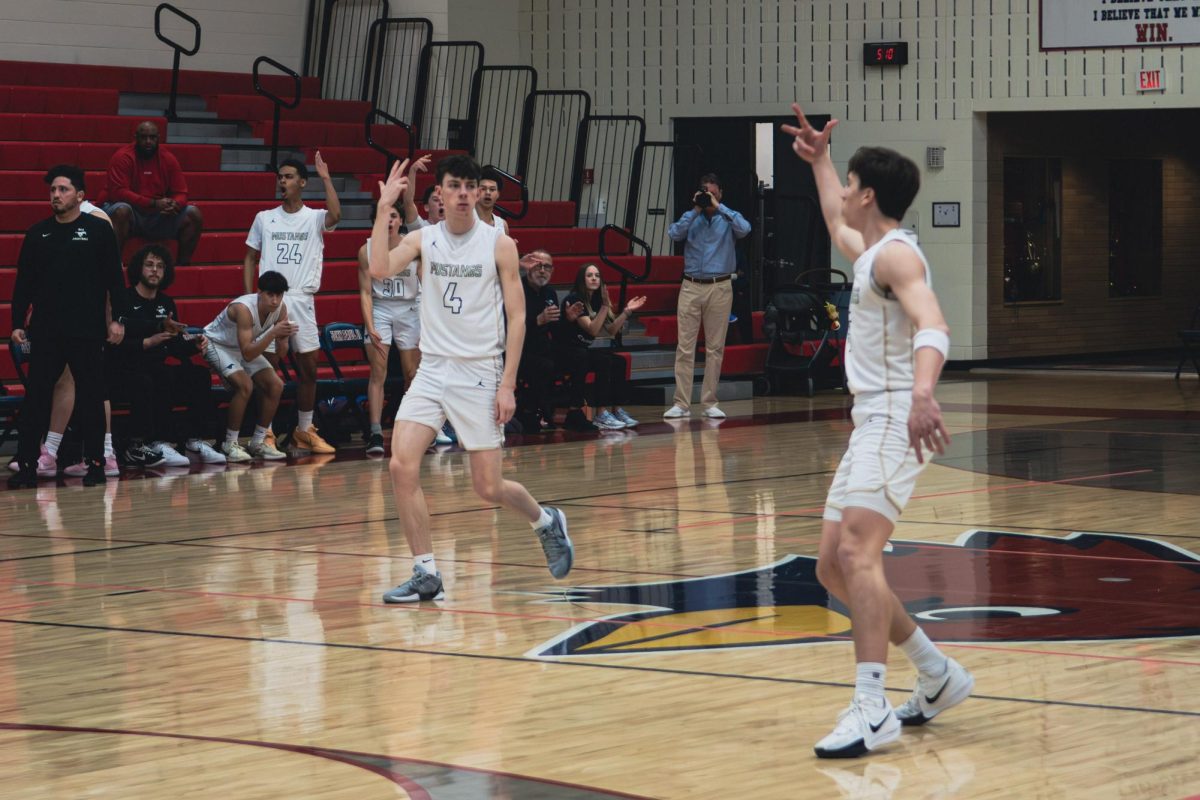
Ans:
[{"label": "black pants of the seated curly-haired man on the bench", "polygon": [[[113,365],[108,392],[115,402],[130,404],[130,435],[143,441],[178,444],[203,439],[214,426],[210,373],[187,363]],[[187,409],[180,427],[174,408]]]}]

